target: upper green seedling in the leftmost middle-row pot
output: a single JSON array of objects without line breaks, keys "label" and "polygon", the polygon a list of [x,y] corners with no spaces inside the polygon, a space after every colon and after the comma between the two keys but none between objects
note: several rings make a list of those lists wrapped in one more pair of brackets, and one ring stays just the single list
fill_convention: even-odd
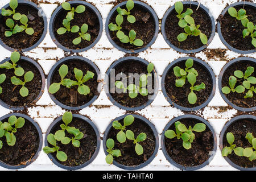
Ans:
[{"label": "upper green seedling in the leftmost middle-row pot", "polygon": [[24,74],[24,69],[21,67],[16,67],[17,66],[17,62],[20,59],[20,54],[19,52],[14,51],[13,53],[11,53],[11,62],[13,64],[11,64],[9,61],[6,61],[3,64],[0,64],[0,68],[5,68],[5,69],[14,69],[14,74],[16,76],[22,76]]}]

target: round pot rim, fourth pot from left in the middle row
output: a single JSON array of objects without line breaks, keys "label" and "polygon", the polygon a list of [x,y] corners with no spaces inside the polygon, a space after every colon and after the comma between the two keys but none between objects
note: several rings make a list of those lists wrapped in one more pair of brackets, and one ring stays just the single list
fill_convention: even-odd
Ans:
[{"label": "round pot rim, fourth pot from left in the middle row", "polygon": [[[196,106],[196,107],[183,107],[180,105],[177,105],[175,102],[173,102],[171,100],[171,98],[167,95],[166,92],[166,87],[165,87],[165,80],[166,80],[166,75],[167,73],[170,71],[170,69],[177,63],[181,62],[181,61],[185,61],[187,59],[193,59],[193,61],[195,61],[197,64],[200,64],[201,66],[203,66],[209,73],[210,78],[212,80],[212,92],[210,93],[209,98],[207,99],[207,101],[205,101],[203,104]],[[205,63],[203,60],[200,60],[196,57],[181,57],[179,59],[176,59],[174,61],[172,61],[167,67],[166,69],[164,69],[163,75],[162,75],[162,80],[161,80],[161,86],[162,86],[162,92],[164,94],[164,97],[166,98],[166,100],[174,107],[176,107],[177,109],[183,110],[183,111],[195,111],[195,110],[199,110],[202,109],[203,107],[207,106],[209,104],[209,102],[212,100],[212,98],[214,97],[215,91],[216,91],[216,77],[214,75],[214,72],[212,70],[212,68],[210,68],[210,66]]]}]

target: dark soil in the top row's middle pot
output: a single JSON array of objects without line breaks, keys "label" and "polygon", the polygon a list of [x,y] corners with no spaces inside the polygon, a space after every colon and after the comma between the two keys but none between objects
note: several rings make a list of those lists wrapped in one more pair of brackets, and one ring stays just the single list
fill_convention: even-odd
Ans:
[{"label": "dark soil in the top row's middle pot", "polygon": [[[126,9],[125,6],[121,6],[122,9]],[[126,9],[127,10],[127,9]],[[118,15],[117,11],[112,15],[110,18],[109,23],[115,23],[115,17]],[[134,15],[136,18],[136,22],[130,23],[127,21],[127,16],[123,16],[123,23],[121,24],[122,30],[125,35],[129,36],[130,30],[134,30],[136,34],[136,39],[143,40],[143,46],[147,46],[148,43],[151,42],[152,38],[155,34],[155,21],[153,16],[150,14],[149,11],[144,9],[142,6],[134,5],[134,8],[131,10],[131,15]],[[125,49],[138,49],[139,47],[134,46],[130,43],[122,43],[117,38],[117,31],[109,31],[111,38],[114,42]],[[142,46],[142,47],[143,47]]]}]

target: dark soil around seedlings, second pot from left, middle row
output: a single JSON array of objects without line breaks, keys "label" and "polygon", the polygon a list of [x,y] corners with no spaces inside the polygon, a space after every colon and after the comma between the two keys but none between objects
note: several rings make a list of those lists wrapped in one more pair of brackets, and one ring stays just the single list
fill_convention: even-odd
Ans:
[{"label": "dark soil around seedlings, second pot from left, middle row", "polygon": [[[87,102],[92,100],[94,96],[98,96],[98,75],[93,67],[80,60],[70,60],[68,62],[65,62],[64,64],[68,66],[68,75],[65,78],[70,78],[73,81],[77,81],[74,73],[75,68],[81,69],[84,75],[86,75],[87,71],[93,72],[94,77],[84,83],[84,85],[87,85],[90,88],[90,93],[86,96],[81,95],[77,92],[77,85],[72,86],[71,88],[66,88],[63,85],[60,85],[60,90],[54,94],[54,97],[58,101],[60,101],[64,105],[75,107],[85,105]],[[55,73],[53,73],[51,84],[53,82],[58,83],[61,81],[61,77],[59,75],[59,68],[61,67],[61,65],[56,69]]]}]

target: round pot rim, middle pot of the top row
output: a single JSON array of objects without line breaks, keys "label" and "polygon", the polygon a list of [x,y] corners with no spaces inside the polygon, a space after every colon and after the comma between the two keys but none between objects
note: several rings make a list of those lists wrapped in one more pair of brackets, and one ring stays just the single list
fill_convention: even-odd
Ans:
[{"label": "round pot rim, middle pot of the top row", "polygon": [[105,24],[105,30],[106,30],[106,36],[108,37],[109,39],[109,42],[115,47],[117,48],[119,51],[123,51],[125,53],[131,53],[131,54],[134,54],[134,53],[139,53],[139,52],[142,52],[142,51],[145,51],[147,48],[149,48],[150,46],[152,46],[152,44],[154,44],[156,38],[158,37],[158,32],[159,32],[159,19],[158,19],[158,16],[156,15],[155,11],[152,9],[152,7],[150,7],[149,5],[147,5],[146,3],[144,2],[141,2],[141,1],[136,1],[134,0],[134,4],[135,5],[138,5],[138,6],[142,6],[144,9],[146,9],[148,11],[148,13],[151,14],[151,16],[153,17],[154,21],[155,21],[155,33],[154,33],[154,36],[152,38],[152,40],[150,41],[150,43],[148,43],[146,46],[144,46],[143,48],[138,48],[138,49],[125,49],[125,48],[122,48],[121,46],[118,46],[114,40],[111,38],[110,36],[110,31],[109,31],[109,22],[110,22],[110,19],[112,18],[113,14],[115,13],[115,10],[117,10],[118,7],[121,7],[123,5],[126,5],[126,2],[121,2],[119,3],[118,5],[114,6],[113,9],[110,11],[110,13],[108,14],[108,17],[106,18],[106,24]]}]

